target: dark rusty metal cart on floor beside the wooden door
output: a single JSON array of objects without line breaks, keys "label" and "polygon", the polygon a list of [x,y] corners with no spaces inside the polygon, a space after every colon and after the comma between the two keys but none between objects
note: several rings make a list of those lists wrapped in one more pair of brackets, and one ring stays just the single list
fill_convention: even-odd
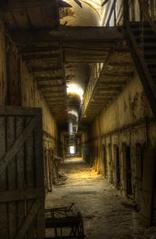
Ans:
[{"label": "dark rusty metal cart on floor beside the wooden door", "polygon": [[69,207],[45,209],[45,218],[46,229],[49,230],[47,239],[85,237],[82,215],[75,210],[74,204]]}]

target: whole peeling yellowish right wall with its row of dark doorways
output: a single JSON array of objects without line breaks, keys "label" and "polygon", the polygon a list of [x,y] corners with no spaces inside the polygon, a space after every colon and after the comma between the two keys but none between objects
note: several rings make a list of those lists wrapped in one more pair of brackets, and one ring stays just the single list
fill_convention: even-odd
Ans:
[{"label": "whole peeling yellowish right wall with its row of dark doorways", "polygon": [[[90,160],[95,169],[114,184],[123,196],[136,201],[146,224],[150,223],[153,203],[155,132],[156,122],[136,74],[120,96],[95,119],[90,136]],[[119,150],[119,166],[116,147]],[[129,148],[130,165],[127,166]]]}]

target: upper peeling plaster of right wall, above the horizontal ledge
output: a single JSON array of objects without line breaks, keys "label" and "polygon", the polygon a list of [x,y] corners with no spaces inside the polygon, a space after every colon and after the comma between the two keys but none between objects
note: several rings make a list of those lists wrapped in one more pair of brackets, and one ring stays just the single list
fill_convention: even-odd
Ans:
[{"label": "upper peeling plaster of right wall, above the horizontal ledge", "polygon": [[[139,78],[135,75],[122,94],[97,117],[93,128],[98,128],[100,124],[101,133],[105,134],[146,116],[152,117],[152,112]],[[94,136],[98,136],[97,131]]]}]

